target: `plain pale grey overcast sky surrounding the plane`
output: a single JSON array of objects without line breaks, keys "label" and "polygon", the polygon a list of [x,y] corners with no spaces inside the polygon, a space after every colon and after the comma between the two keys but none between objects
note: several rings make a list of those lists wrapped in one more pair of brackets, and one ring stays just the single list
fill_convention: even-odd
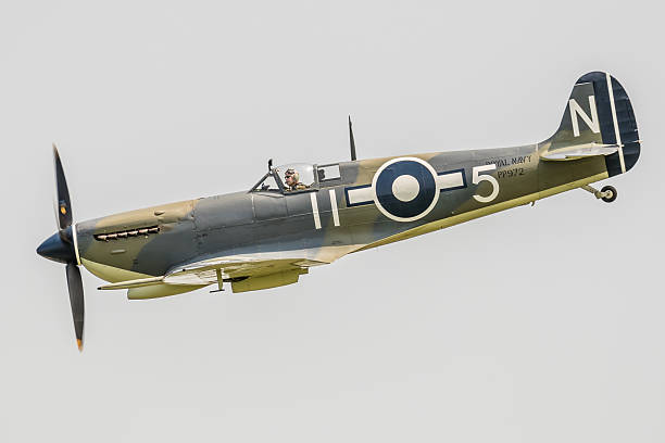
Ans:
[{"label": "plain pale grey overcast sky surrounding the plane", "polygon": [[[651,1],[4,1],[0,440],[662,442],[663,10]],[[611,72],[644,140],[606,180],[353,254],[299,284],[148,302],[84,271],[79,354],[51,142],[76,220],[248,189],[266,161],[540,141]]]}]

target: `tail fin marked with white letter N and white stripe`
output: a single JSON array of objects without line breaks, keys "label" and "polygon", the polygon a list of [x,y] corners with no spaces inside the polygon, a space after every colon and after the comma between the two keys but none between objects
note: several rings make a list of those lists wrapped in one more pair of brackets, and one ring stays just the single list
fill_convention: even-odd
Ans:
[{"label": "tail fin marked with white letter N and white stripe", "polygon": [[630,100],[624,87],[607,73],[593,72],[577,80],[561,125],[542,143],[542,153],[556,156],[557,152],[580,145],[604,148],[610,176],[630,169],[640,156]]}]

